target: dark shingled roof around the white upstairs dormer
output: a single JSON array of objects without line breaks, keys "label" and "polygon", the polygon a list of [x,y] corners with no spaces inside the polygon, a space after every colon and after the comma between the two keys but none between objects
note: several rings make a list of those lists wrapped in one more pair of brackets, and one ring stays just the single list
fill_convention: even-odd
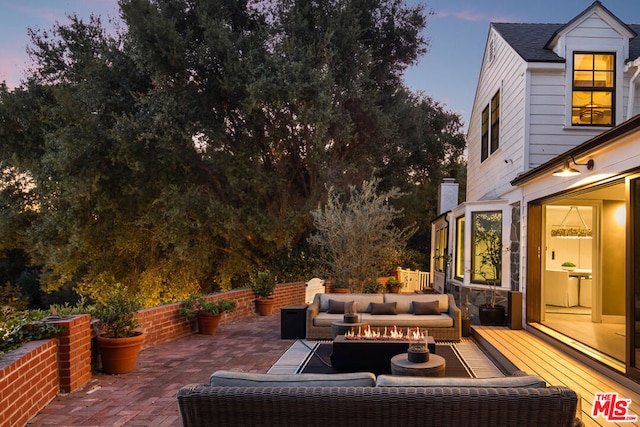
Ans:
[{"label": "dark shingled roof around the white upstairs dormer", "polygon": [[596,7],[602,8],[632,34],[633,38],[629,40],[629,60],[640,57],[640,24],[625,24],[599,1],[595,1],[566,24],[491,23],[491,27],[527,62],[565,62],[564,58],[548,48],[549,43],[564,28]]}]

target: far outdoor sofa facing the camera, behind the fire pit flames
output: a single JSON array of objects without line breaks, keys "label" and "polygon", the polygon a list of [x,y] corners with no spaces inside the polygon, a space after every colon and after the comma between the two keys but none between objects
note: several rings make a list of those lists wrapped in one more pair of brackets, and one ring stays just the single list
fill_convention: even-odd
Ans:
[{"label": "far outdoor sofa facing the camera, behind the fire pit flames", "polygon": [[[332,301],[355,301],[360,321],[372,328],[420,327],[438,341],[460,341],[460,309],[451,294],[316,294],[307,308],[307,339],[331,339],[331,322],[343,320],[344,314],[330,309]],[[437,314],[417,314],[416,307],[437,301]],[[386,305],[380,305],[386,304]],[[395,306],[396,314],[375,314],[375,308]],[[384,312],[384,310],[379,310]],[[422,311],[428,313],[429,311]]]}]

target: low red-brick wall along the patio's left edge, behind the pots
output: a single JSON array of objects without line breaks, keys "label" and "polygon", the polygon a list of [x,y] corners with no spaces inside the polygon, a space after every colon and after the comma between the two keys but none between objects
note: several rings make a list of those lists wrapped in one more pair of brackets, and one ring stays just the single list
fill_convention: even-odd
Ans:
[{"label": "low red-brick wall along the patio's left edge, behind the pots", "polygon": [[[305,283],[276,286],[275,308],[303,305]],[[209,295],[208,300],[233,300],[235,311],[225,313],[222,322],[255,316],[255,294],[240,289]],[[192,322],[180,315],[180,303],[148,308],[137,313],[140,329],[147,337],[143,348],[171,341],[195,331]],[[59,393],[71,393],[91,379],[92,328],[88,314],[50,319],[60,327],[56,339],[33,341],[0,359],[0,424],[25,425]],[[126,374],[125,374],[126,375]]]}]

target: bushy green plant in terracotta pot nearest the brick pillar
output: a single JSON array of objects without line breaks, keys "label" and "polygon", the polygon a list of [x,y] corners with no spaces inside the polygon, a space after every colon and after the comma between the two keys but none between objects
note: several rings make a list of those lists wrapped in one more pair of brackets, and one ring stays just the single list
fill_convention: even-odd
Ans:
[{"label": "bushy green plant in terracotta pot nearest the brick pillar", "polygon": [[98,348],[102,370],[108,374],[124,374],[135,368],[145,334],[137,331],[135,313],[142,304],[116,286],[106,300],[96,304],[92,316],[98,325]]}]

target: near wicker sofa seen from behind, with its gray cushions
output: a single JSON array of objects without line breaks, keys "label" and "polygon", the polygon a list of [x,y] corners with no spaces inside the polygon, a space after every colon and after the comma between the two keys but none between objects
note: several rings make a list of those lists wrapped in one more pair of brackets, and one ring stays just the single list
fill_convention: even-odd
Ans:
[{"label": "near wicker sofa seen from behind, with its gray cushions", "polygon": [[579,397],[517,372],[500,378],[218,371],[177,394],[181,425],[582,426]]}]

